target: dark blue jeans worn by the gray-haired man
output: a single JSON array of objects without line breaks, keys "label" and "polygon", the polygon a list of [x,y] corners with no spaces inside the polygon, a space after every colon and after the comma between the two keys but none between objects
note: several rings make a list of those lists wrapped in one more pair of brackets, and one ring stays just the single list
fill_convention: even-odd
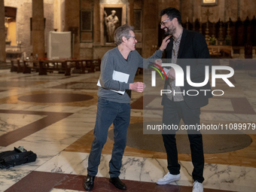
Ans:
[{"label": "dark blue jeans worn by the gray-haired man", "polygon": [[114,146],[109,162],[109,175],[111,178],[120,175],[124,148],[126,147],[127,129],[130,124],[130,103],[110,102],[99,97],[96,124],[94,127],[94,140],[90,149],[87,172],[96,176],[102,148],[108,139],[108,128],[114,126]]}]

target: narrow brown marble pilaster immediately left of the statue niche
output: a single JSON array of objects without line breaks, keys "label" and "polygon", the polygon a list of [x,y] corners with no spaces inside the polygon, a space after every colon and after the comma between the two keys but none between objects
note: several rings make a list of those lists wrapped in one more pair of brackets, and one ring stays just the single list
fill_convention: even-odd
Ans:
[{"label": "narrow brown marble pilaster immediately left of the statue niche", "polygon": [[100,18],[99,18],[99,0],[93,1],[93,42],[100,44]]}]

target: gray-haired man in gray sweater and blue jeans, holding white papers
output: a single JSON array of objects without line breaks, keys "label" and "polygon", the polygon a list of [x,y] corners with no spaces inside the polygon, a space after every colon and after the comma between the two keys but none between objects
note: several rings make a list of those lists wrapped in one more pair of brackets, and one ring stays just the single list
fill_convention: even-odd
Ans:
[{"label": "gray-haired man in gray sweater and blue jeans, holding white papers", "polygon": [[[160,49],[148,59],[160,59],[162,57],[163,50],[169,43],[167,38],[163,40]],[[131,90],[136,92],[144,90],[145,84],[142,82],[133,83],[133,80],[137,69],[147,66],[143,66],[143,58],[135,50],[137,41],[132,26],[123,25],[117,28],[114,32],[114,42],[117,47],[108,50],[102,58],[101,75],[99,77],[101,87],[98,91],[99,102],[94,127],[94,140],[88,159],[88,175],[86,181],[84,181],[86,190],[93,189],[102,148],[107,141],[108,128],[111,123],[114,125],[114,146],[109,162],[109,181],[118,189],[126,189],[126,185],[120,181],[118,176],[120,175],[123,152],[126,147],[127,128],[130,123],[130,93]],[[129,76],[127,82],[114,80],[114,72]],[[123,91],[123,93],[117,93],[116,91]]]}]

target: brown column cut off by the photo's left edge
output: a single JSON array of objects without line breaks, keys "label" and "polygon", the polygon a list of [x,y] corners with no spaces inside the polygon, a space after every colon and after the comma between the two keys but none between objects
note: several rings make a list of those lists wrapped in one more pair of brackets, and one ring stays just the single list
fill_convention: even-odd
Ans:
[{"label": "brown column cut off by the photo's left edge", "polygon": [[4,0],[0,0],[0,64],[5,60],[5,4]]}]

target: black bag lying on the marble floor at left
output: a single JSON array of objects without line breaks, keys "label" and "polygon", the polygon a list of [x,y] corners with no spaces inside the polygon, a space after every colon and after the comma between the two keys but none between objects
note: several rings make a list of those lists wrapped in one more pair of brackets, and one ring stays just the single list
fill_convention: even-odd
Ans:
[{"label": "black bag lying on the marble floor at left", "polygon": [[32,151],[26,151],[22,147],[14,148],[14,151],[3,151],[0,153],[0,168],[8,169],[11,166],[34,162],[36,157]]}]

